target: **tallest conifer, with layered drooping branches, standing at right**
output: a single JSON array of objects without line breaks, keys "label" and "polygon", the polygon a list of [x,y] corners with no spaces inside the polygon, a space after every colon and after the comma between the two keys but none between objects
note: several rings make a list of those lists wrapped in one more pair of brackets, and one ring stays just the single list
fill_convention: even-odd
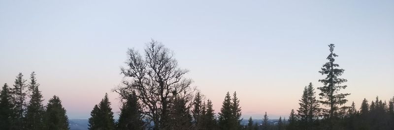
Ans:
[{"label": "tallest conifer, with layered drooping branches, standing at right", "polygon": [[346,82],[347,79],[344,78],[338,78],[343,74],[345,71],[344,69],[338,69],[339,67],[338,64],[335,64],[334,57],[337,57],[333,51],[334,51],[334,44],[328,45],[330,54],[328,55],[327,59],[328,62],[325,63],[322,67],[322,70],[319,71],[322,75],[327,75],[326,78],[320,79],[319,81],[324,84],[323,87],[318,87],[318,89],[321,91],[319,94],[321,97],[320,101],[323,105],[328,106],[329,109],[326,109],[324,112],[325,117],[331,119],[330,120],[330,130],[332,130],[333,126],[333,121],[334,118],[338,117],[338,110],[339,107],[338,105],[345,104],[347,100],[345,99],[346,96],[350,95],[348,93],[339,93],[339,90],[345,89],[347,85],[341,85],[342,83]]}]

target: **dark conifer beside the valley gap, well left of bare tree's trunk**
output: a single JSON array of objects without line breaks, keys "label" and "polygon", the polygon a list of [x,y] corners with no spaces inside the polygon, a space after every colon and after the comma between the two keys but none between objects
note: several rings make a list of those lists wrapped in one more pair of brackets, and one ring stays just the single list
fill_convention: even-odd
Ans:
[{"label": "dark conifer beside the valley gap, well left of bare tree's trunk", "polygon": [[110,105],[108,94],[105,93],[99,105],[95,105],[91,112],[89,130],[115,130],[114,113]]}]

